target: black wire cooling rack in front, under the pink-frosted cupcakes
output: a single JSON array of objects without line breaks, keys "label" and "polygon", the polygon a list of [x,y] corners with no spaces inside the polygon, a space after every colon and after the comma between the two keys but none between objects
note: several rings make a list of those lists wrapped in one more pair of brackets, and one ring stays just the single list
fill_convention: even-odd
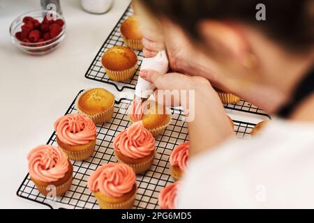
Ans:
[{"label": "black wire cooling rack in front, under the pink-frosted cupcakes", "polygon": [[[75,100],[70,105],[66,114],[76,113],[74,103]],[[87,179],[100,165],[108,162],[117,162],[117,158],[114,157],[112,140],[129,125],[127,117],[127,108],[129,105],[130,100],[121,99],[117,101],[110,123],[97,125],[95,151],[88,160],[73,162],[73,185],[66,194],[58,197],[57,201],[50,201],[39,194],[29,178],[29,174],[27,174],[17,190],[17,196],[43,203],[50,208],[99,208],[96,199],[87,188]],[[181,110],[172,109],[172,123],[163,134],[156,138],[157,153],[154,164],[144,175],[137,175],[138,191],[134,208],[158,208],[158,193],[165,185],[173,183],[168,164],[170,153],[174,146],[188,139],[188,128],[181,118],[183,118]],[[250,132],[254,126],[254,123],[234,121],[234,131],[240,139],[250,138]],[[55,132],[47,144],[57,146]]]}]

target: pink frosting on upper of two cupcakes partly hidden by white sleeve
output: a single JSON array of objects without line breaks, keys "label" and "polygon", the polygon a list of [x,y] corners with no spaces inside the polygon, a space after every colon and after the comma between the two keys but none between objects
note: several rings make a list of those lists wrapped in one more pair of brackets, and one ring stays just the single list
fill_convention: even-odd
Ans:
[{"label": "pink frosting on upper of two cupcakes partly hidden by white sleeve", "polygon": [[179,166],[181,170],[185,170],[188,165],[188,155],[190,153],[190,142],[186,141],[179,146],[176,146],[170,155],[170,164]]}]

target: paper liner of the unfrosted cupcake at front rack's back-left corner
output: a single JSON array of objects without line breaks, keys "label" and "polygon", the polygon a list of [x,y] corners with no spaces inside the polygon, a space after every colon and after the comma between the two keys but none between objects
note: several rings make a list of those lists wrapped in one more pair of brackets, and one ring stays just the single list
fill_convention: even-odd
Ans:
[{"label": "paper liner of the unfrosted cupcake at front rack's back-left corner", "polygon": [[[75,108],[77,109],[77,112],[88,116],[89,118],[91,118],[91,120],[94,121],[95,124],[102,124],[102,123],[106,123],[107,121],[110,121],[110,119],[112,118],[114,114],[114,102],[112,103],[112,105],[110,105],[110,107],[107,108],[107,110],[105,110],[104,112],[100,112],[98,114],[87,114],[86,112],[83,112],[78,107],[78,101],[80,100],[80,97],[87,91],[83,91],[82,93],[80,93],[80,95],[78,95],[77,97],[77,100],[75,101]],[[111,94],[114,95],[113,93]]]}]

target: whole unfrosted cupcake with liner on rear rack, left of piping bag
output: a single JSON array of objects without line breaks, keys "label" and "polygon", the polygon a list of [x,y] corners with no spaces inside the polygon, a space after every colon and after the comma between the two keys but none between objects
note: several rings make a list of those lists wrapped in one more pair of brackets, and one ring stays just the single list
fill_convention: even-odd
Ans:
[{"label": "whole unfrosted cupcake with liner on rear rack, left of piping bag", "polygon": [[101,59],[109,79],[123,82],[131,79],[136,72],[137,56],[132,49],[123,46],[108,49]]}]

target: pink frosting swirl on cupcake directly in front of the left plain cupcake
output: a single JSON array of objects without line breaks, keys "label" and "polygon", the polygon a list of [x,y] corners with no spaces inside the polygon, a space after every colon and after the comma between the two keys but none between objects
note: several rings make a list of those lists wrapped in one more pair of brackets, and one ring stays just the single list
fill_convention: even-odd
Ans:
[{"label": "pink frosting swirl on cupcake directly in front of the left plain cupcake", "polygon": [[58,138],[72,146],[88,144],[96,138],[96,125],[84,114],[68,114],[54,123]]}]

